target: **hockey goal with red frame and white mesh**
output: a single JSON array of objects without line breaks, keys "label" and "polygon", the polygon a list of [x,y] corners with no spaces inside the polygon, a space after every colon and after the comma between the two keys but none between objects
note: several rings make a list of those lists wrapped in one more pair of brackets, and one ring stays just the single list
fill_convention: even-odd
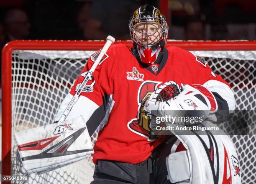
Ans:
[{"label": "hockey goal with red frame and white mesh", "polygon": [[[122,41],[131,46],[131,42]],[[14,41],[3,50],[2,174],[23,175],[13,133],[54,121],[61,101],[101,41]],[[215,74],[232,87],[236,108],[255,109],[256,42],[169,42],[204,58]],[[256,117],[253,117],[255,120]],[[251,126],[253,127],[253,126]],[[230,136],[237,149],[242,183],[256,183],[256,128],[246,136]],[[95,143],[97,133],[92,137]],[[46,174],[32,174],[28,183],[90,183],[94,164],[80,162]]]}]

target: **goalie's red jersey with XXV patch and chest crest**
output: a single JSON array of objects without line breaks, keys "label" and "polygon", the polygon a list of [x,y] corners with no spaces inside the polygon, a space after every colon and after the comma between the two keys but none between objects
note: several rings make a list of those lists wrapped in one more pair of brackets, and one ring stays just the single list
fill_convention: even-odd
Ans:
[{"label": "goalie's red jersey with XXV patch and chest crest", "polygon": [[[67,99],[75,94],[98,54],[89,58]],[[151,137],[150,119],[143,104],[159,84],[167,81],[205,85],[220,96],[216,97],[218,107],[233,100],[226,92],[230,90],[228,84],[204,60],[186,50],[165,48],[160,63],[145,66],[127,46],[112,45],[68,116],[69,119],[83,115],[90,134],[98,129],[92,155],[95,163],[107,159],[136,164],[151,155],[163,137]]]}]

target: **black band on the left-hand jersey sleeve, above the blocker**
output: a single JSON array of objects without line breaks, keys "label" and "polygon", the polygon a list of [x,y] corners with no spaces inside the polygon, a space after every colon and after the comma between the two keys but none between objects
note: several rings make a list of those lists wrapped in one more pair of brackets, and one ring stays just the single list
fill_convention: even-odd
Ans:
[{"label": "black band on the left-hand jersey sleeve, above the blocker", "polygon": [[97,127],[100,125],[100,122],[102,122],[102,119],[104,119],[104,117],[105,117],[105,114],[108,109],[107,105],[109,102],[109,98],[110,98],[109,94],[105,94],[102,97],[103,104],[92,113],[92,116],[86,122],[86,126],[88,128],[90,137],[95,132]]}]

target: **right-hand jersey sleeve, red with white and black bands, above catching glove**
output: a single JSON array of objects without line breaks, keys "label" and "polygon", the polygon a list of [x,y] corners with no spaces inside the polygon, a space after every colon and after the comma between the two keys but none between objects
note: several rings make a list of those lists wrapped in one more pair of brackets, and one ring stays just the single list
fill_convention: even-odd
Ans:
[{"label": "right-hand jersey sleeve, red with white and black bands, above catching glove", "polygon": [[203,85],[213,94],[217,102],[216,110],[234,110],[235,98],[228,82],[223,80],[221,76],[214,74],[202,58],[193,55],[191,52],[187,52],[185,57],[192,77],[192,84]]}]

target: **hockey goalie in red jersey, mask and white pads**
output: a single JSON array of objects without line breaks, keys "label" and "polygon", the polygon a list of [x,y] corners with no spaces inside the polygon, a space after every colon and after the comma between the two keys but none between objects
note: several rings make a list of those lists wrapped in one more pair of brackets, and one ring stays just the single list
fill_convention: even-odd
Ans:
[{"label": "hockey goalie in red jersey, mask and white pads", "polygon": [[[58,161],[48,170],[83,158],[84,155],[76,157],[79,153],[74,152],[72,144],[50,150],[49,147],[58,144],[58,135],[69,133],[68,137],[84,128],[84,142],[95,131],[99,132],[92,154],[93,184],[240,184],[239,161],[228,136],[207,131],[203,135],[196,131],[192,135],[172,131],[172,135],[165,136],[153,134],[151,129],[154,117],[175,113],[185,116],[184,111],[191,116],[203,116],[201,126],[214,126],[214,112],[235,108],[228,83],[200,57],[178,47],[165,47],[168,25],[156,7],[139,7],[129,28],[133,48],[115,44],[106,52],[95,52],[61,103],[55,119],[58,123],[49,125],[55,137],[37,154],[48,150],[48,156],[54,157],[49,153],[63,152],[70,159],[63,164]],[[77,93],[79,97],[72,103]],[[69,113],[65,113],[67,109],[71,109]],[[186,122],[173,124],[191,126]],[[47,141],[49,137],[44,136]],[[43,162],[35,155],[28,156],[26,144],[20,146],[20,137],[16,137],[16,142],[23,148],[19,149],[21,160],[30,157]],[[79,139],[80,144],[84,142]],[[89,143],[88,147],[81,147],[92,151]],[[46,162],[44,167],[47,168]]]}]

